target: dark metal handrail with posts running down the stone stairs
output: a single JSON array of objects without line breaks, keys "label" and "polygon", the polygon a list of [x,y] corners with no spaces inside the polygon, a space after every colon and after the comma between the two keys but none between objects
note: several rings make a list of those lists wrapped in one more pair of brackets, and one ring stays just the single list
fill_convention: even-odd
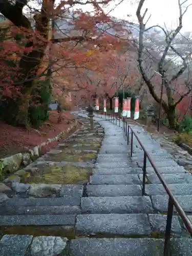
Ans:
[{"label": "dark metal handrail with posts running down the stone stairs", "polygon": [[[115,117],[115,115],[105,113],[105,119],[108,119],[109,121],[112,121],[111,117]],[[171,228],[172,228],[172,217],[173,217],[173,213],[174,213],[174,206],[175,206],[179,216],[181,217],[181,220],[183,221],[186,229],[190,233],[191,237],[192,237],[192,223],[190,222],[190,220],[186,216],[183,208],[181,207],[181,205],[177,201],[176,197],[173,195],[172,191],[170,191],[170,189],[169,189],[167,183],[165,182],[163,176],[160,174],[159,168],[155,165],[154,160],[152,159],[150,154],[147,152],[144,145],[142,144],[142,142],[138,138],[137,134],[133,131],[132,127],[129,125],[129,123],[127,123],[127,118],[123,117],[123,119],[121,119],[120,115],[119,115],[119,127],[120,127],[120,120],[123,121],[123,131],[125,132],[125,136],[127,137],[127,145],[129,145],[129,132],[131,130],[131,157],[133,156],[133,135],[135,136],[135,138],[139,142],[142,150],[144,151],[142,196],[145,196],[146,159],[148,159],[150,161],[151,165],[153,166],[153,168],[155,170],[155,173],[157,174],[161,184],[165,188],[165,191],[166,191],[166,193],[169,197],[168,210],[167,210],[167,220],[166,220],[166,230],[165,230],[164,252],[163,252],[163,256],[168,256],[169,255],[170,232],[171,232]],[[115,123],[115,121],[113,123]],[[117,116],[116,116],[116,124],[117,124]]]}]

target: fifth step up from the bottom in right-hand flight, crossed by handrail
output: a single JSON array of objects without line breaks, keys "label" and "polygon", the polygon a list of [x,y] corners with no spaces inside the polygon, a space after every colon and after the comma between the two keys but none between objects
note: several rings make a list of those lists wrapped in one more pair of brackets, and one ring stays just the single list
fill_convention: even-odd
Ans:
[{"label": "fifth step up from the bottom in right-hand flight, crossed by handrail", "polygon": [[[191,174],[162,174],[166,183],[191,183],[192,175]],[[142,179],[142,177],[140,177]],[[160,184],[160,180],[156,174],[147,175],[147,179],[151,183]]]}]

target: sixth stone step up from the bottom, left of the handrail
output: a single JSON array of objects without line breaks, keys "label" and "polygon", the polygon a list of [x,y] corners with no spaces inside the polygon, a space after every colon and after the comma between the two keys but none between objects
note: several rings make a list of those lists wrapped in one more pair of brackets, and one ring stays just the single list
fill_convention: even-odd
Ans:
[{"label": "sixth stone step up from the bottom, left of the handrail", "polygon": [[108,169],[108,168],[96,168],[93,169],[93,175],[124,175],[124,174],[142,174],[143,170],[142,168],[138,167],[129,167],[129,168],[113,168],[113,169]]}]

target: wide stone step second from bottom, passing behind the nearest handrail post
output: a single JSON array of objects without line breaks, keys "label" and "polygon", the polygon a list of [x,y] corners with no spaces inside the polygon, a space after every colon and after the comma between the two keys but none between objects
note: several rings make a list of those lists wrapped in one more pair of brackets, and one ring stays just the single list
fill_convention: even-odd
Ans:
[{"label": "wide stone step second from bottom, passing behind the nearest handrail post", "polygon": [[[80,234],[113,234],[118,236],[150,236],[164,233],[166,215],[153,214],[88,214],[78,215],[76,230]],[[172,233],[181,233],[177,216],[173,216]]]}]

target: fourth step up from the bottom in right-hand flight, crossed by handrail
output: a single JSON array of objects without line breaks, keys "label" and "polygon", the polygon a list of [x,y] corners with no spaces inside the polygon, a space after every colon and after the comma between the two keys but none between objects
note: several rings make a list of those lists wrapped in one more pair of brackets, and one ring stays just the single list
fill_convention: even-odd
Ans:
[{"label": "fourth step up from the bottom in right-hand flight, crossed by handrail", "polygon": [[[192,195],[191,184],[168,184],[168,187],[174,195],[183,196],[183,195]],[[145,185],[145,194],[147,196],[163,196],[167,195],[162,184],[146,184]]]}]

